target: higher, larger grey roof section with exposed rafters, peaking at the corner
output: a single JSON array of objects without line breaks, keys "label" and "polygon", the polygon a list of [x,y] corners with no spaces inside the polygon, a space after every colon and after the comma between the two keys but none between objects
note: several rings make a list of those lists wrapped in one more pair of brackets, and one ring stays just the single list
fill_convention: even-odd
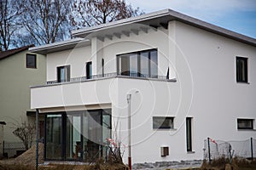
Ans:
[{"label": "higher, larger grey roof section with exposed rafters, peaking at the corner", "polygon": [[[206,31],[210,31],[216,33],[218,35],[229,37],[239,42],[244,42],[249,45],[256,46],[256,39],[252,37],[247,37],[236,33],[234,31],[229,31],[219,26],[214,26],[202,20],[197,20],[193,17],[190,17],[185,14],[178,13],[171,9],[164,9],[158,12],[143,14],[140,16],[132,17],[125,20],[117,20],[110,22],[108,24],[102,24],[99,26],[92,26],[84,29],[79,29],[72,31],[73,37],[119,37],[120,34],[125,34],[125,32],[132,32],[147,28],[150,26],[151,28],[157,27],[166,27],[168,26],[168,22],[172,20],[177,20],[188,24],[190,26],[195,26],[201,28]],[[136,24],[136,25],[135,25]],[[136,26],[134,28],[134,26]]]}]

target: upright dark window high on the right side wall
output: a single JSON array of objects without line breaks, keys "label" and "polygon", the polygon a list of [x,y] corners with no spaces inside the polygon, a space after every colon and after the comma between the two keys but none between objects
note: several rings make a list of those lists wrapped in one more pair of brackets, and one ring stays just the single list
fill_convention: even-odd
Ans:
[{"label": "upright dark window high on the right side wall", "polygon": [[248,82],[247,58],[236,57],[236,82]]}]

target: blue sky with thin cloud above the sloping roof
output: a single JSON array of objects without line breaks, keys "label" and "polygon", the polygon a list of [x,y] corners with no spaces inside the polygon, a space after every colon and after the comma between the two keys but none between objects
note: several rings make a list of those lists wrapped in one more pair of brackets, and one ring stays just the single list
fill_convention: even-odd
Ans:
[{"label": "blue sky with thin cloud above the sloping roof", "polygon": [[213,25],[256,38],[256,0],[126,0],[145,13],[171,8]]}]

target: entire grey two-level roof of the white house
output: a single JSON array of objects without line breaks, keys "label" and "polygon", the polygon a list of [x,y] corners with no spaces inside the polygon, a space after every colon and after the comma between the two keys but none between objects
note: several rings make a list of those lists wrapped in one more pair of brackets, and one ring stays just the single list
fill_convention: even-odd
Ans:
[{"label": "entire grey two-level roof of the white house", "polygon": [[[214,26],[205,21],[195,19],[185,14],[178,13],[171,9],[164,9],[154,13],[143,14],[136,17],[131,17],[124,20],[117,20],[107,24],[102,24],[99,26],[86,27],[83,29],[72,31],[73,39],[55,42],[35,48],[29,48],[31,52],[38,54],[48,54],[56,51],[61,51],[63,49],[73,48],[79,42],[83,41],[85,45],[90,45],[90,37],[111,37],[120,34],[125,34],[125,32],[138,31],[143,29],[148,29],[148,26],[157,28],[159,26],[166,27],[168,22],[172,20],[177,20],[188,24],[190,26],[195,26],[206,31],[216,33],[218,35],[229,37],[239,42],[244,42],[249,45],[256,47],[256,39],[252,37],[247,37],[236,33],[234,31],[229,31],[227,29],[221,28],[219,26]],[[81,39],[79,39],[81,38]]]}]

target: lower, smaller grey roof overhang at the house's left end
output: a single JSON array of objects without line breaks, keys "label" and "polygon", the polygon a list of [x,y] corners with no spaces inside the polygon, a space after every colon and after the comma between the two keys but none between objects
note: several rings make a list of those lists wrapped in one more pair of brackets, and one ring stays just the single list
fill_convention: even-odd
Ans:
[{"label": "lower, smaller grey roof overhang at the house's left end", "polygon": [[49,54],[67,49],[85,47],[88,45],[90,45],[89,39],[85,40],[84,38],[76,37],[62,42],[54,42],[34,48],[29,48],[29,51],[37,54]]}]

